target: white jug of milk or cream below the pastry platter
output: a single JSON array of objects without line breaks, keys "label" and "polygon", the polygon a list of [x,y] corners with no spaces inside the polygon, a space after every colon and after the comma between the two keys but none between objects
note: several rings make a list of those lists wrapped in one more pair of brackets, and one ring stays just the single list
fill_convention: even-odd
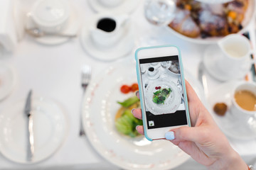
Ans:
[{"label": "white jug of milk or cream below the pastry platter", "polygon": [[230,77],[242,78],[249,72],[252,62],[250,41],[242,35],[231,34],[218,42],[218,67]]}]

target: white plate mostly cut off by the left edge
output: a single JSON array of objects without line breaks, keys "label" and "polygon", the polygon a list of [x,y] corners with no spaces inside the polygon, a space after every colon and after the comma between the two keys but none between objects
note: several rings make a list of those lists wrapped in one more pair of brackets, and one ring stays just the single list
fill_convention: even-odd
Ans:
[{"label": "white plate mostly cut off by the left edge", "polygon": [[0,101],[6,98],[14,89],[16,76],[14,69],[3,62],[0,62]]}]

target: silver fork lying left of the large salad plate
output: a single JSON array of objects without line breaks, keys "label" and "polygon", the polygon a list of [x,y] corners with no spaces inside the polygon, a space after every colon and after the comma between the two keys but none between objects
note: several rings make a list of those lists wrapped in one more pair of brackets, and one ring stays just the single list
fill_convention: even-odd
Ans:
[{"label": "silver fork lying left of the large salad plate", "polygon": [[[92,74],[92,69],[89,65],[83,65],[82,66],[82,74],[81,74],[81,86],[82,86],[82,96],[85,94],[85,90],[87,89],[87,86],[90,82],[91,74]],[[85,130],[82,127],[82,117],[80,113],[80,132],[79,136],[85,136]]]}]

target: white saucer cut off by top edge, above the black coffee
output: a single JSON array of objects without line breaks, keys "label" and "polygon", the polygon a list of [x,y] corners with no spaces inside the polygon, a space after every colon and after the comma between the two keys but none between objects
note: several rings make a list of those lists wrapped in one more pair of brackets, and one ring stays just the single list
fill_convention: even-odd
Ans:
[{"label": "white saucer cut off by top edge, above the black coffee", "polygon": [[[103,2],[104,1],[104,2]],[[92,9],[98,13],[102,12],[114,12],[114,13],[132,13],[142,1],[137,0],[111,0],[112,6],[110,6],[109,1],[107,0],[88,0],[88,3]]]}]

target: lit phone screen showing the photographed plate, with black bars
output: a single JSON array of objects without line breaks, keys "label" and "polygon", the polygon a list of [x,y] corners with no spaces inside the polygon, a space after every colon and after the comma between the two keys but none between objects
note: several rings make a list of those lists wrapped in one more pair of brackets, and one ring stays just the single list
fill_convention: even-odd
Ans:
[{"label": "lit phone screen showing the photographed plate, with black bars", "polygon": [[148,129],[188,125],[178,55],[139,60]]}]

